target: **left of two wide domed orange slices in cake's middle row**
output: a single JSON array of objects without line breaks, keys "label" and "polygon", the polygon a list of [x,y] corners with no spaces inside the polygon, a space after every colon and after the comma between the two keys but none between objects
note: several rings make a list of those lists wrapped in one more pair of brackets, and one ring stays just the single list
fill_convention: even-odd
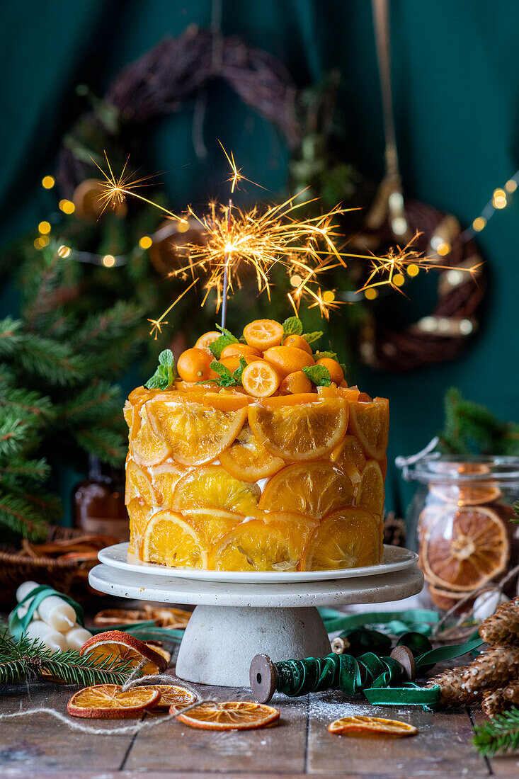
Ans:
[{"label": "left of two wide domed orange slices in cake's middle row", "polygon": [[178,482],[173,508],[224,509],[244,516],[257,513],[260,488],[231,476],[220,465],[190,471]]}]

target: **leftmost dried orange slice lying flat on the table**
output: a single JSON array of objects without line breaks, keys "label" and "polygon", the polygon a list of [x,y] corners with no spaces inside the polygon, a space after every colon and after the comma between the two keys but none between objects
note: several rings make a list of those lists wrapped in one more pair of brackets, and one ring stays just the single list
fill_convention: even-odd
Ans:
[{"label": "leftmost dried orange slice lying flat on the table", "polygon": [[74,693],[67,703],[72,717],[90,720],[128,720],[140,717],[161,700],[153,687],[132,687],[123,692],[118,684],[99,684]]}]

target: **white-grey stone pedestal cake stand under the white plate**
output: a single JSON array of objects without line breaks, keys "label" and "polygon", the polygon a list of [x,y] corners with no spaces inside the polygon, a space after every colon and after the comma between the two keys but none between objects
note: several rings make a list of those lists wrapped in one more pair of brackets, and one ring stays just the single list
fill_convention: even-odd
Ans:
[{"label": "white-grey stone pedestal cake stand under the white plate", "polygon": [[188,682],[248,687],[256,654],[273,662],[330,652],[317,606],[399,601],[422,590],[423,575],[406,569],[350,579],[224,583],[96,566],[94,590],[139,601],[196,604],[178,651],[177,675]]}]

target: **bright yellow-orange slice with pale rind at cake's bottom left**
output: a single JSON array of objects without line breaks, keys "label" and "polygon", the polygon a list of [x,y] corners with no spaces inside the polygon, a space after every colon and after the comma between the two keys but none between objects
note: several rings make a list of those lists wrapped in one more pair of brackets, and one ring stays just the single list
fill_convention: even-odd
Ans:
[{"label": "bright yellow-orange slice with pale rind at cake's bottom left", "polygon": [[143,560],[171,568],[206,568],[207,544],[189,520],[167,509],[147,524]]}]

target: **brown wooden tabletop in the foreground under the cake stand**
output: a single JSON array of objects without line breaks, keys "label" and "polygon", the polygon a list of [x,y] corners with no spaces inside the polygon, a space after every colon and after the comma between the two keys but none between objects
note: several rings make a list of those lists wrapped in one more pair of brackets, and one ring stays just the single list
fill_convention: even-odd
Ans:
[{"label": "brown wooden tabletop in the foreground under the cake stand", "polygon": [[[171,679],[176,679],[171,668]],[[179,682],[182,683],[182,682]],[[193,686],[194,687],[194,686]],[[28,688],[0,689],[0,713],[52,707],[66,715],[72,686],[34,682]],[[196,686],[204,697],[250,700],[248,689]],[[428,713],[415,707],[372,707],[341,693],[288,699],[274,696],[281,710],[277,727],[215,733],[164,721],[128,735],[87,735],[72,731],[48,714],[0,723],[0,777],[84,777],[84,779],[202,779],[215,774],[247,779],[326,777],[500,777],[519,775],[519,756],[486,760],[470,744],[478,710]],[[327,724],[347,714],[401,719],[418,728],[413,738],[337,737]],[[68,715],[67,715],[68,716]],[[164,719],[145,714],[144,721]],[[109,733],[133,721],[74,720]]]}]

